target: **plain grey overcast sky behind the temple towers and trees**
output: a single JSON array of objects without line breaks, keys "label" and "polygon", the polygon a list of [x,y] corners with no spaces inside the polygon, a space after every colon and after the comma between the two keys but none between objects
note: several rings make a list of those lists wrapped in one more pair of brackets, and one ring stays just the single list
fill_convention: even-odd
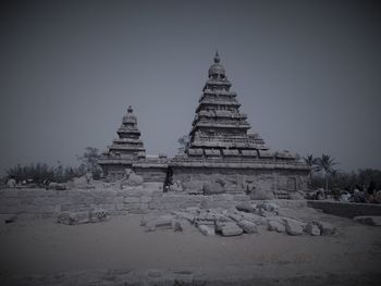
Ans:
[{"label": "plain grey overcast sky behind the temple towers and trees", "polygon": [[174,156],[216,49],[274,150],[381,169],[378,1],[1,1],[0,169],[105,151],[131,104]]}]

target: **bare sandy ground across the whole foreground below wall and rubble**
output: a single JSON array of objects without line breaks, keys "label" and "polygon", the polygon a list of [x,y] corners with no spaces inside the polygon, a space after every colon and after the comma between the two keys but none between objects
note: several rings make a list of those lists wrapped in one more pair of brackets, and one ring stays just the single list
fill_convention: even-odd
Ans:
[{"label": "bare sandy ground across the whole foreground below wall and rubble", "polygon": [[259,229],[237,237],[146,233],[143,215],[96,224],[1,224],[1,285],[380,285],[381,227],[310,208],[283,209],[336,226],[333,236]]}]

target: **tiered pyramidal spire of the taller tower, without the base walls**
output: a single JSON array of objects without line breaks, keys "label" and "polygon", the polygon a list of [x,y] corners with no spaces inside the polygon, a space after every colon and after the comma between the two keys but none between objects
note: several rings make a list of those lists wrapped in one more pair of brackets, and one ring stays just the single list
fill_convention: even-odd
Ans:
[{"label": "tiered pyramidal spire of the taller tower, without the base walls", "polygon": [[239,111],[236,92],[231,91],[225,69],[216,52],[209,67],[199,105],[185,150],[189,157],[268,158],[269,148],[258,134],[248,134],[247,115]]}]

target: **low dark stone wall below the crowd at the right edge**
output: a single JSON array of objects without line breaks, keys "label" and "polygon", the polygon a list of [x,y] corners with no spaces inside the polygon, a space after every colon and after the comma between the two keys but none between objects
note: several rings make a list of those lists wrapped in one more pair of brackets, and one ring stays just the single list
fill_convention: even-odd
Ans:
[{"label": "low dark stone wall below the crowd at the right edge", "polygon": [[372,203],[310,200],[308,207],[349,219],[357,215],[381,215],[381,204]]}]

